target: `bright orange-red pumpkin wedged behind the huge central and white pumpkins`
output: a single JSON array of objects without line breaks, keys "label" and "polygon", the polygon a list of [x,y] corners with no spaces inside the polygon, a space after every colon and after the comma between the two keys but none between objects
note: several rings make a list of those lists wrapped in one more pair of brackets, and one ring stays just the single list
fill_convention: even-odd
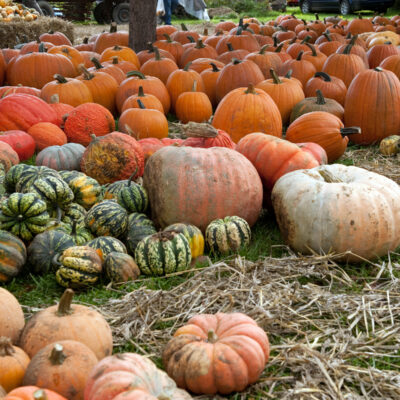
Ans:
[{"label": "bright orange-red pumpkin wedged behind the huge central and white pumpkins", "polygon": [[236,150],[253,163],[267,193],[271,192],[282,175],[296,169],[318,166],[318,161],[298,146],[263,133],[245,136],[237,144]]}]

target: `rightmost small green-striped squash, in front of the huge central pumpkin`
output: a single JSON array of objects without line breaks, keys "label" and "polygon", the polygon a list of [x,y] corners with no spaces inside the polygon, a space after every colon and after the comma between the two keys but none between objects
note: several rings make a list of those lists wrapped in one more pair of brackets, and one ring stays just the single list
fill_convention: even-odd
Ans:
[{"label": "rightmost small green-striped squash, in front of the huge central pumpkin", "polygon": [[250,244],[251,229],[243,218],[225,217],[212,221],[205,236],[212,253],[228,254]]}]

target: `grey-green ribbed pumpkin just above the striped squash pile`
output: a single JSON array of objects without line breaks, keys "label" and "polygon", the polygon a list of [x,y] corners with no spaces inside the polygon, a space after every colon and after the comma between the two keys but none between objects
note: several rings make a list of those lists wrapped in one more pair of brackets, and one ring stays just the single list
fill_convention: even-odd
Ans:
[{"label": "grey-green ribbed pumpkin just above the striped squash pile", "polygon": [[85,147],[79,143],[67,143],[62,146],[50,146],[36,157],[36,165],[60,170],[80,170],[80,162]]}]

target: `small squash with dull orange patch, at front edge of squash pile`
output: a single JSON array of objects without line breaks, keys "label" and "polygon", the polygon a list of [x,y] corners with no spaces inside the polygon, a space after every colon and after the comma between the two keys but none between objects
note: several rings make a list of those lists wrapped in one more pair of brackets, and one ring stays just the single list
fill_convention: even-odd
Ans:
[{"label": "small squash with dull orange patch, at front edge of squash pile", "polygon": [[112,282],[134,281],[140,275],[140,269],[135,260],[125,253],[113,251],[104,261],[107,278]]}]

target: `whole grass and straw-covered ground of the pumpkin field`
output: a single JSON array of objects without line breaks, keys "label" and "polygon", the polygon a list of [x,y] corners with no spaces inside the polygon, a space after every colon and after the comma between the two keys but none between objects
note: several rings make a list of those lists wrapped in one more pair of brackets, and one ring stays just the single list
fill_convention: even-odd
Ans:
[{"label": "whole grass and straw-covered ground of the pumpkin field", "polygon": [[[298,8],[287,12],[314,18]],[[213,32],[213,22],[174,24],[181,22]],[[107,28],[76,25],[75,43]],[[377,146],[351,145],[337,162],[400,184],[399,157],[384,157]],[[252,229],[251,246],[238,255],[203,257],[191,270],[165,277],[100,283],[77,292],[75,302],[104,315],[115,353],[136,352],[161,368],[165,344],[191,316],[243,312],[254,318],[268,334],[270,361],[257,384],[229,399],[399,399],[400,248],[374,262],[343,264],[336,258],[295,254],[283,242],[274,215],[264,210]],[[54,274],[29,271],[6,287],[27,318],[55,304],[63,292]]]}]

